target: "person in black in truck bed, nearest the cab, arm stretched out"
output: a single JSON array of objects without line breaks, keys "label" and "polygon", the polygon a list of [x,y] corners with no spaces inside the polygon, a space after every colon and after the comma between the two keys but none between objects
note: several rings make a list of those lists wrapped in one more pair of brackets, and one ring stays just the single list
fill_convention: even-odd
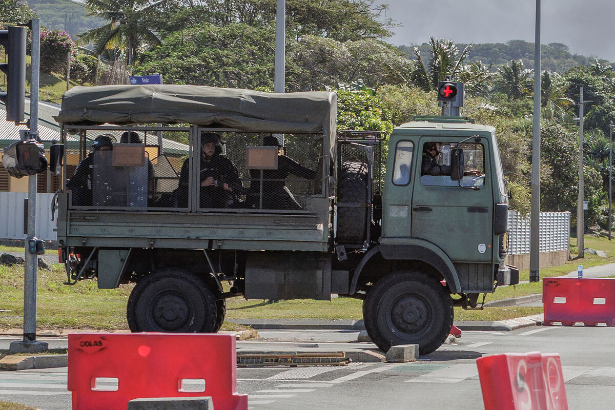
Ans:
[{"label": "person in black in truck bed, nearest the cab, arm stretched out", "polygon": [[[265,136],[263,145],[280,147],[279,141],[273,135]],[[300,165],[285,155],[278,156],[277,170],[263,170],[263,209],[302,209],[286,186],[285,180],[289,174],[300,178],[314,179],[316,171]],[[247,194],[249,208],[258,209],[260,207],[260,178],[260,170],[250,170],[251,182]]]}]

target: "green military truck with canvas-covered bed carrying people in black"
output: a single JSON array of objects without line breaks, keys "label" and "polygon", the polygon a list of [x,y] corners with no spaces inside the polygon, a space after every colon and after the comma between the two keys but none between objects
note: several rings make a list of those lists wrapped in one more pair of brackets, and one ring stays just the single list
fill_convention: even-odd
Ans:
[{"label": "green military truck with canvas-covered bed carrying people in black", "polygon": [[[332,92],[69,90],[56,119],[61,144],[78,140],[78,149],[58,144],[51,159],[61,164],[56,215],[66,283],[135,282],[132,331],[216,332],[226,299],[236,296],[338,294],[363,300],[380,349],[438,349],[453,306],[475,308],[481,293],[518,282],[518,271],[504,266],[508,205],[495,130],[426,117],[385,141],[379,132],[337,131],[336,116]],[[212,133],[223,142],[216,155],[232,161],[240,181],[228,189],[234,176],[212,176],[233,197],[217,208],[201,187],[201,142]],[[92,149],[101,135],[112,149]],[[264,143],[272,137],[277,144]],[[448,172],[422,175],[434,143]],[[89,176],[76,187],[70,179],[80,162]]]}]

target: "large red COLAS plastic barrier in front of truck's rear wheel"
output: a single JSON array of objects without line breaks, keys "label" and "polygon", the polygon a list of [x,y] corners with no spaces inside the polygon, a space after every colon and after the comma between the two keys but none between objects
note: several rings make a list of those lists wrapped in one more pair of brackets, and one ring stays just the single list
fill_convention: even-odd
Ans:
[{"label": "large red COLAS plastic barrier in front of truck's rear wheel", "polygon": [[235,337],[227,334],[69,334],[68,390],[73,410],[185,396],[211,396],[216,410],[248,409],[248,396],[237,394]]}]

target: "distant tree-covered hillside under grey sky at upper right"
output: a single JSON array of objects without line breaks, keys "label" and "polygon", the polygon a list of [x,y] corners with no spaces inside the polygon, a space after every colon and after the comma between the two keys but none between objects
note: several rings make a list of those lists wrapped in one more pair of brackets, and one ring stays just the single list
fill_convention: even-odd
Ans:
[{"label": "distant tree-covered hillside under grey sky at upper right", "polygon": [[[459,50],[468,44],[457,43]],[[410,58],[415,57],[414,45],[400,45],[399,49],[407,53]],[[422,55],[429,55],[429,44],[423,43],[417,46]],[[541,45],[541,68],[549,71],[564,73],[576,65],[589,65],[595,61],[595,56],[584,56],[569,52],[568,45],[550,43]],[[510,40],[506,43],[483,43],[472,44],[467,61],[482,61],[483,64],[493,64],[492,69],[504,65],[510,60],[523,60],[526,68],[534,68],[534,43],[523,40]],[[607,63],[600,60],[601,63]]]}]

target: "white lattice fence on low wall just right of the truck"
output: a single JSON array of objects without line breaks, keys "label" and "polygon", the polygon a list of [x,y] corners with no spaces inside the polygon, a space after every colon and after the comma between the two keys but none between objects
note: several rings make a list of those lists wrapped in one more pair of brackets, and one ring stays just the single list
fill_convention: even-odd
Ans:
[{"label": "white lattice fence on low wall just right of the truck", "polygon": [[[508,254],[530,253],[530,216],[508,211]],[[540,213],[540,251],[565,251],[570,248],[570,213]]]}]

